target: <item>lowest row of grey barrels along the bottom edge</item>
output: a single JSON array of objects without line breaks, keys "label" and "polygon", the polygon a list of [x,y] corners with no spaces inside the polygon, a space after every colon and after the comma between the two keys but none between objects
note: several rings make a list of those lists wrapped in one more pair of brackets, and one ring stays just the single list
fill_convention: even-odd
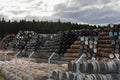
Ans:
[{"label": "lowest row of grey barrels along the bottom edge", "polygon": [[[76,73],[55,70],[53,80],[77,80]],[[119,74],[79,74],[79,80],[120,80]]]}]

